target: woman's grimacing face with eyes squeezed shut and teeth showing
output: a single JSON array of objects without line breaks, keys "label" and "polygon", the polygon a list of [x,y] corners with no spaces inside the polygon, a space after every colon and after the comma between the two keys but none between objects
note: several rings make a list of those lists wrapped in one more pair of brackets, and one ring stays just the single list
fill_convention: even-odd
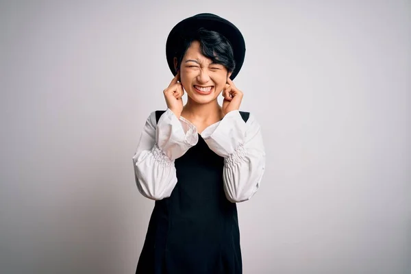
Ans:
[{"label": "woman's grimacing face with eyes squeezed shut and teeth showing", "polygon": [[191,43],[180,66],[182,86],[197,103],[209,103],[219,97],[230,75],[225,66],[212,63],[201,53],[198,41]]}]

